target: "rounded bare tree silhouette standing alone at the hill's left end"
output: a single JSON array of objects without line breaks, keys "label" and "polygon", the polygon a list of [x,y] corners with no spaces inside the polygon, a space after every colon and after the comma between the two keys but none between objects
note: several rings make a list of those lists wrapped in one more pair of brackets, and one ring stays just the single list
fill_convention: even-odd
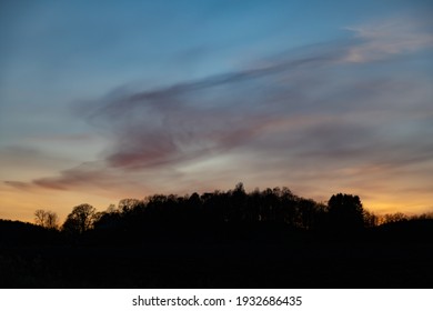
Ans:
[{"label": "rounded bare tree silhouette standing alone at the hill's left end", "polygon": [[63,230],[72,233],[82,233],[93,227],[97,220],[95,209],[90,204],[80,204],[72,209],[63,223]]}]

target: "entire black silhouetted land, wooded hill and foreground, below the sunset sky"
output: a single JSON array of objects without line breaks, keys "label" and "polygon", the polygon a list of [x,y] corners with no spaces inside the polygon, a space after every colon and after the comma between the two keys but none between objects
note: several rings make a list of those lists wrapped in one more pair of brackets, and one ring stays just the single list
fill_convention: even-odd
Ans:
[{"label": "entire black silhouetted land, wooded hill and foreground, below the sunset sky", "polygon": [[[38,213],[44,214],[43,211]],[[52,214],[52,212],[51,212]],[[356,195],[289,189],[124,199],[61,230],[0,221],[6,288],[423,288],[433,219],[377,218]]]}]

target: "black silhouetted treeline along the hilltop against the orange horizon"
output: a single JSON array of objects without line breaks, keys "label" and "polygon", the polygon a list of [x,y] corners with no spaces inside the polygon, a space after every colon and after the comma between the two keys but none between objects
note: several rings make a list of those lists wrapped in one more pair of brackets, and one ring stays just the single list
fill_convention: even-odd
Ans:
[{"label": "black silhouetted treeline along the hilltop against the orange horizon", "polygon": [[[123,199],[103,212],[90,204],[74,207],[59,228],[69,237],[92,237],[102,242],[140,242],[179,239],[191,241],[281,240],[294,232],[326,237],[360,235],[380,224],[431,219],[402,213],[377,217],[363,208],[358,195],[334,194],[326,203],[293,194],[288,188],[246,192],[233,190],[191,195],[154,194]],[[38,210],[38,224],[54,229],[57,215]]]}]

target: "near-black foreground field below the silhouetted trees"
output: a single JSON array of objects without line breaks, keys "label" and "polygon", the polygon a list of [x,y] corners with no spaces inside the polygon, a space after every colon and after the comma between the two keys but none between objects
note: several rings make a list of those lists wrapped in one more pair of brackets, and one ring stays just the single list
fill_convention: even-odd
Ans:
[{"label": "near-black foreground field below the silhouetted trees", "polygon": [[432,222],[417,234],[402,228],[376,228],[361,238],[292,232],[286,239],[271,234],[266,239],[250,235],[211,242],[144,239],[122,245],[121,239],[95,243],[90,238],[70,243],[54,239],[39,245],[3,243],[0,285],[432,288],[433,242],[432,235],[425,235],[431,229]]}]

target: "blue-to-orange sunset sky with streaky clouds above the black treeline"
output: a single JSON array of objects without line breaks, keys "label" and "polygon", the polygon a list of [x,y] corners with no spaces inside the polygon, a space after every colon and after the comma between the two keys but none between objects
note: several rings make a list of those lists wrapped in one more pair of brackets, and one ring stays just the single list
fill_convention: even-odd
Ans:
[{"label": "blue-to-orange sunset sky with streaky clouds above the black treeline", "polygon": [[433,210],[433,2],[1,1],[0,219],[288,187]]}]

